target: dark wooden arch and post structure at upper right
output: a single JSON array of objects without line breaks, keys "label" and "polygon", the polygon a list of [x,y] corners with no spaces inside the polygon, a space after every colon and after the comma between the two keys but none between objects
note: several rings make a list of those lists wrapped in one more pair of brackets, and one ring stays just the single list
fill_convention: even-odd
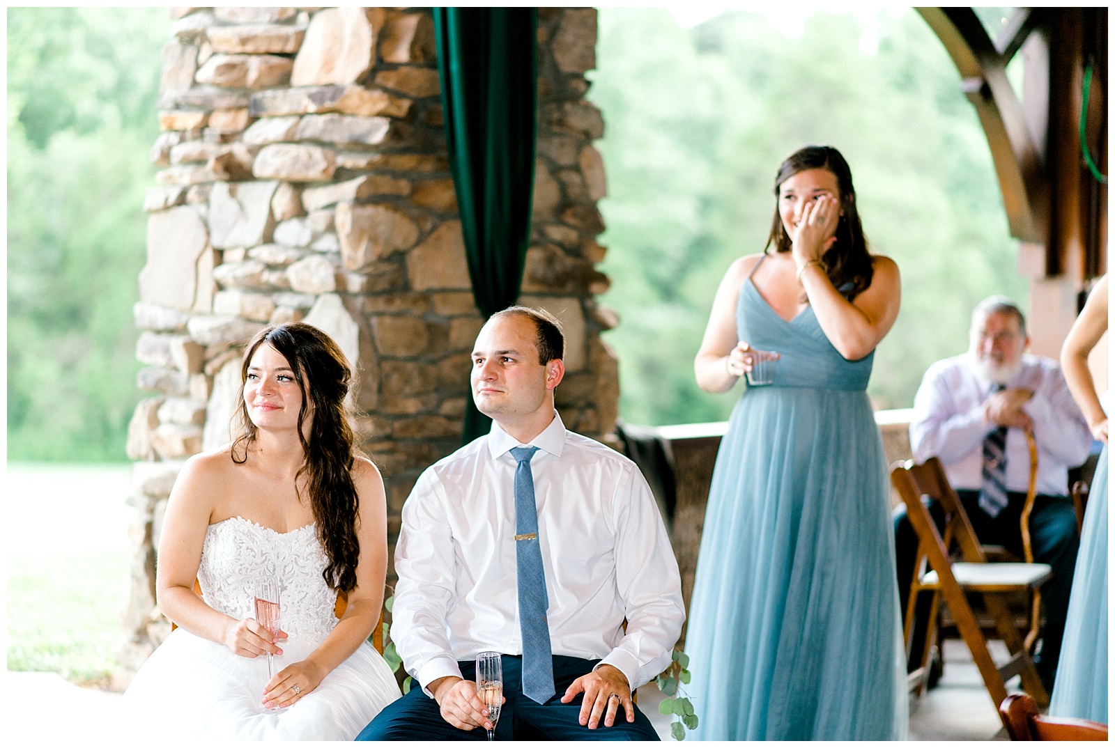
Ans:
[{"label": "dark wooden arch and post structure at upper right", "polygon": [[[1107,266],[1107,9],[1017,8],[992,39],[971,8],[919,8],[960,71],[995,162],[1018,271],[1030,279],[1031,348],[1056,357],[1083,293]],[[1022,95],[1007,65],[1022,55]],[[1038,313],[1039,312],[1039,313]]]}]

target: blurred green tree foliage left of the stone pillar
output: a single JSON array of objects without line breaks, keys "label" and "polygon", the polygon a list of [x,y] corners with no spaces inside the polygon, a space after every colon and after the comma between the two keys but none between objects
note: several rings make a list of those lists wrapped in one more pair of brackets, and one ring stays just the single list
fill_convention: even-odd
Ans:
[{"label": "blurred green tree foliage left of the stone pillar", "polygon": [[125,459],[161,9],[8,9],[8,458]]}]

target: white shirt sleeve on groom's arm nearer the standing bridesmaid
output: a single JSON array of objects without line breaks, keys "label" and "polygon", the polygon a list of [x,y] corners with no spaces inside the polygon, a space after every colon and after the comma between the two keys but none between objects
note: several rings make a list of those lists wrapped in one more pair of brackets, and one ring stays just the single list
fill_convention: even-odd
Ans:
[{"label": "white shirt sleeve on groom's arm nearer the standing bridesmaid", "polygon": [[658,505],[642,474],[633,465],[628,467],[612,511],[615,582],[627,632],[600,664],[619,669],[634,690],[670,663],[686,613],[678,565]]}]

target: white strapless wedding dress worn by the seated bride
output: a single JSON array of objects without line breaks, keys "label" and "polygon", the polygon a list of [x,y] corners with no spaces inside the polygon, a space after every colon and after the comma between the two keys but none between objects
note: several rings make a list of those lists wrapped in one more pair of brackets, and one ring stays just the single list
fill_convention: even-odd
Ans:
[{"label": "white strapless wedding dress worn by the seated bride", "polygon": [[[321,576],[328,561],[314,525],[279,533],[241,517],[205,532],[205,602],[242,620],[254,615],[254,582],[281,580],[281,640],[275,672],[306,659],[337,624],[337,594]],[[175,740],[351,740],[399,698],[395,676],[363,643],[310,693],[279,712],[263,708],[265,657],[245,658],[177,629],[136,673],[120,700],[122,728],[134,738]]]}]

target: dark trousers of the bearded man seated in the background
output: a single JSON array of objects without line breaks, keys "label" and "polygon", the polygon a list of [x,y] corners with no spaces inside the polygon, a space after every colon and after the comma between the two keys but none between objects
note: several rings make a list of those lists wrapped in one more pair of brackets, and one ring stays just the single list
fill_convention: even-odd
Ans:
[{"label": "dark trousers of the bearded man seated in the background", "polygon": [[[992,517],[979,507],[979,492],[957,490],[960,503],[972,523],[976,537],[983,545],[1001,545],[1019,558],[1022,557],[1022,533],[1019,524],[1026,494],[1010,492],[1009,503]],[[944,517],[935,503],[930,506],[930,515],[938,527],[943,525]],[[905,507],[894,511],[894,544],[898,552],[899,600],[903,608],[910,593],[910,580],[913,576],[913,561],[918,552],[918,535],[905,516]],[[1041,603],[1045,606],[1045,628],[1041,630],[1041,651],[1036,658],[1038,674],[1046,688],[1053,687],[1057,672],[1057,660],[1060,658],[1060,640],[1065,633],[1065,616],[1068,613],[1068,595],[1073,590],[1073,571],[1076,569],[1076,552],[1080,545],[1080,536],[1076,528],[1076,509],[1068,496],[1046,496],[1038,494],[1034,498],[1034,511],[1030,513],[1030,545],[1034,550],[1034,561],[1049,564],[1053,577],[1041,585]],[[929,595],[922,595],[919,601],[915,618],[915,631],[924,631],[923,615],[928,615]],[[920,641],[915,633],[914,642]],[[921,653],[911,652],[911,662],[920,662]]]}]

